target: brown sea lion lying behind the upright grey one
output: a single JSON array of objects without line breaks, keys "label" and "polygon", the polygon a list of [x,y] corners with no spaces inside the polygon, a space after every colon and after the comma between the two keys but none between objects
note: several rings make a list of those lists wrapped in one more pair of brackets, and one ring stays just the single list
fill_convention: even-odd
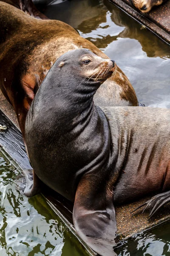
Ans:
[{"label": "brown sea lion lying behind the upright grey one", "polygon": [[[108,57],[66,23],[35,19],[3,2],[0,10],[0,88],[17,113],[24,137],[26,114],[34,95],[60,55],[83,47]],[[133,87],[119,67],[114,79],[108,79],[96,93],[95,102],[138,105]]]}]

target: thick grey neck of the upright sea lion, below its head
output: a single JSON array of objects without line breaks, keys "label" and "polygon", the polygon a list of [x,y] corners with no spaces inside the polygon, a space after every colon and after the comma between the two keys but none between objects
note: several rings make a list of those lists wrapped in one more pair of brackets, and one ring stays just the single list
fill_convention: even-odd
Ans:
[{"label": "thick grey neck of the upright sea lion, below its head", "polygon": [[91,116],[94,110],[93,96],[96,90],[94,87],[90,91],[85,91],[83,89],[85,82],[80,85],[79,90],[74,90],[73,84],[77,83],[75,78],[71,78],[71,82],[63,80],[65,81],[63,83],[56,81],[56,76],[53,75],[51,74],[49,79],[47,76],[33,100],[35,115],[42,115],[42,119],[48,119],[49,123],[51,119],[56,119],[56,127],[66,125],[65,129],[68,126],[71,129]]}]

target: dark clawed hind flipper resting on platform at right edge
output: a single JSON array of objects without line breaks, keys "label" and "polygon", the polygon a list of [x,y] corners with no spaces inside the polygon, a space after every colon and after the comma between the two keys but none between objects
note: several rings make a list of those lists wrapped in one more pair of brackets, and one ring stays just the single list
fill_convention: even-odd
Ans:
[{"label": "dark clawed hind flipper resting on platform at right edge", "polygon": [[136,211],[140,207],[145,206],[142,212],[144,212],[147,208],[149,208],[150,209],[149,219],[150,219],[162,206],[164,206],[169,202],[170,202],[170,191],[167,191],[154,196],[144,204],[137,207],[134,211]]}]

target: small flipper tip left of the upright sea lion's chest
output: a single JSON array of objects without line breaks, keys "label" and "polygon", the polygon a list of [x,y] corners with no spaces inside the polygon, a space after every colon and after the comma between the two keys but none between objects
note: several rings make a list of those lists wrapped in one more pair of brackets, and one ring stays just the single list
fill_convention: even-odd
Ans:
[{"label": "small flipper tip left of the upright sea lion's chest", "polygon": [[26,188],[24,190],[24,194],[28,198],[39,194],[42,190],[42,181],[35,174],[34,170],[24,170],[23,175],[26,178]]}]

